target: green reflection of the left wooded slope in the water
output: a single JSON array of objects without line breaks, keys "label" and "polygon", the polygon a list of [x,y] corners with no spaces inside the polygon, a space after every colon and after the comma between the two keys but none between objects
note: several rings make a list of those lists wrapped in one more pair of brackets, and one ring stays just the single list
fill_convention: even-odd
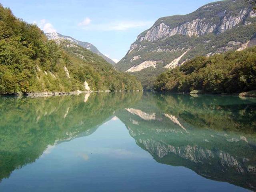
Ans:
[{"label": "green reflection of the left wooded slope in the water", "polygon": [[92,134],[142,93],[100,93],[49,98],[0,97],[0,181],[35,162],[49,146]]}]

